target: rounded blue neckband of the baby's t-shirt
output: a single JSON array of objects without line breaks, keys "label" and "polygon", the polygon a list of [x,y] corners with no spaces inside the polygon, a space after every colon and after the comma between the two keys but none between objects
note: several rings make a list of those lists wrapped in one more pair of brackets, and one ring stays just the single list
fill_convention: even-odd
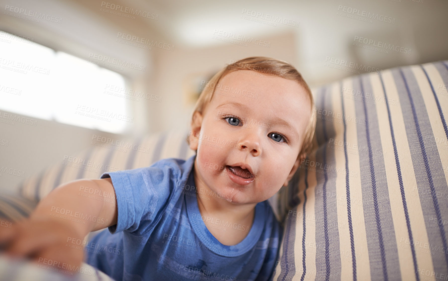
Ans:
[{"label": "rounded blue neckband of the baby's t-shirt", "polygon": [[[187,179],[187,184],[189,184],[191,187],[196,186],[196,184],[194,183],[194,162],[190,170],[190,175]],[[194,195],[196,195],[196,188],[194,188],[194,190],[192,191],[194,191]],[[216,239],[213,234],[211,234],[211,232],[207,229],[204,221],[200,218],[201,212],[199,211],[198,200],[196,196],[185,194],[185,203],[187,206],[187,214],[190,220],[190,225],[194,230],[194,233],[198,236],[199,240],[201,240],[204,246],[218,255],[233,257],[246,253],[255,246],[263,232],[263,218],[265,217],[265,208],[263,208],[263,202],[258,202],[258,204],[255,205],[254,222],[247,236],[240,243],[233,246],[227,246],[220,243],[218,239]],[[193,220],[193,217],[197,219]]]}]

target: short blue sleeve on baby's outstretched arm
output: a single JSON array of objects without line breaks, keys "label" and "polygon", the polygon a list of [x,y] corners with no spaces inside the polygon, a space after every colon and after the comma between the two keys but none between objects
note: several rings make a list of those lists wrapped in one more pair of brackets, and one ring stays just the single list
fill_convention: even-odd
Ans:
[{"label": "short blue sleeve on baby's outstretched arm", "polygon": [[179,170],[159,162],[151,167],[104,173],[111,178],[118,209],[117,223],[110,233],[128,231],[144,234],[154,226],[176,186]]}]

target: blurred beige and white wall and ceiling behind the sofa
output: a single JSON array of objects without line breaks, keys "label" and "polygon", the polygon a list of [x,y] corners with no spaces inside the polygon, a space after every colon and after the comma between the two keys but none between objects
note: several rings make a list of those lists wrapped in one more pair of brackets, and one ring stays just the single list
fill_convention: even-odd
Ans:
[{"label": "blurred beige and white wall and ceiling behind the sofa", "polygon": [[[60,17],[62,23],[6,13],[10,6]],[[118,6],[146,17],[121,13]],[[130,103],[136,122],[126,136],[50,120],[35,127],[0,123],[0,167],[24,175],[0,175],[2,191],[14,191],[27,176],[91,147],[93,135],[120,139],[188,127],[194,103],[185,85],[247,56],[286,60],[310,86],[365,72],[346,66],[351,63],[381,70],[448,59],[448,2],[442,0],[0,0],[0,8],[2,31],[85,60],[95,53],[145,64],[145,72],[118,72],[133,89],[163,97]],[[172,51],[135,47],[122,34],[156,40]]]}]

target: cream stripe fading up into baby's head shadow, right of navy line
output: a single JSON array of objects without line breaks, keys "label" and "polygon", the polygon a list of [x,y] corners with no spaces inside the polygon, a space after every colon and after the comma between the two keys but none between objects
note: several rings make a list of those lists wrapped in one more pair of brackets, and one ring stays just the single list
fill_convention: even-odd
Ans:
[{"label": "cream stripe fading up into baby's head shadow, right of navy line", "polygon": [[[311,153],[310,160],[316,161],[316,153]],[[308,171],[308,190],[306,191],[306,236],[305,236],[305,249],[306,249],[306,275],[304,280],[314,281],[316,278],[316,216],[314,213],[316,197],[315,190],[317,185],[316,171]],[[296,241],[296,243],[299,241]],[[302,241],[300,241],[302,245]]]}]

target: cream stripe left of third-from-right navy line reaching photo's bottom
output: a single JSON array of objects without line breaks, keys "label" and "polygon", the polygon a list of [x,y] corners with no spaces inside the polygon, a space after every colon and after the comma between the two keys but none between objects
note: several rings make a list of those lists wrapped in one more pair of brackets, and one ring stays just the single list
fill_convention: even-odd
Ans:
[{"label": "cream stripe left of third-from-right navy line reaching photo's bottom", "polygon": [[[351,80],[344,80],[345,88],[352,88]],[[336,135],[335,139],[344,140],[344,124],[342,119],[342,104],[340,101],[340,86],[339,83],[334,83],[332,86],[331,97],[333,99],[333,112],[340,112],[340,118],[334,118],[334,131]],[[335,167],[329,169],[329,172],[333,172],[334,169],[345,170],[345,153],[343,149],[335,149]],[[349,230],[349,217],[347,213],[347,192],[345,187],[345,175],[342,173],[336,173],[336,199],[337,202],[337,222],[339,230],[339,247],[340,247],[340,265],[341,276],[340,280],[352,281],[353,280],[353,263],[350,247],[350,230]],[[353,210],[352,210],[353,212]],[[356,245],[355,245],[356,246]],[[350,255],[343,255],[342,253],[350,253]]]}]

